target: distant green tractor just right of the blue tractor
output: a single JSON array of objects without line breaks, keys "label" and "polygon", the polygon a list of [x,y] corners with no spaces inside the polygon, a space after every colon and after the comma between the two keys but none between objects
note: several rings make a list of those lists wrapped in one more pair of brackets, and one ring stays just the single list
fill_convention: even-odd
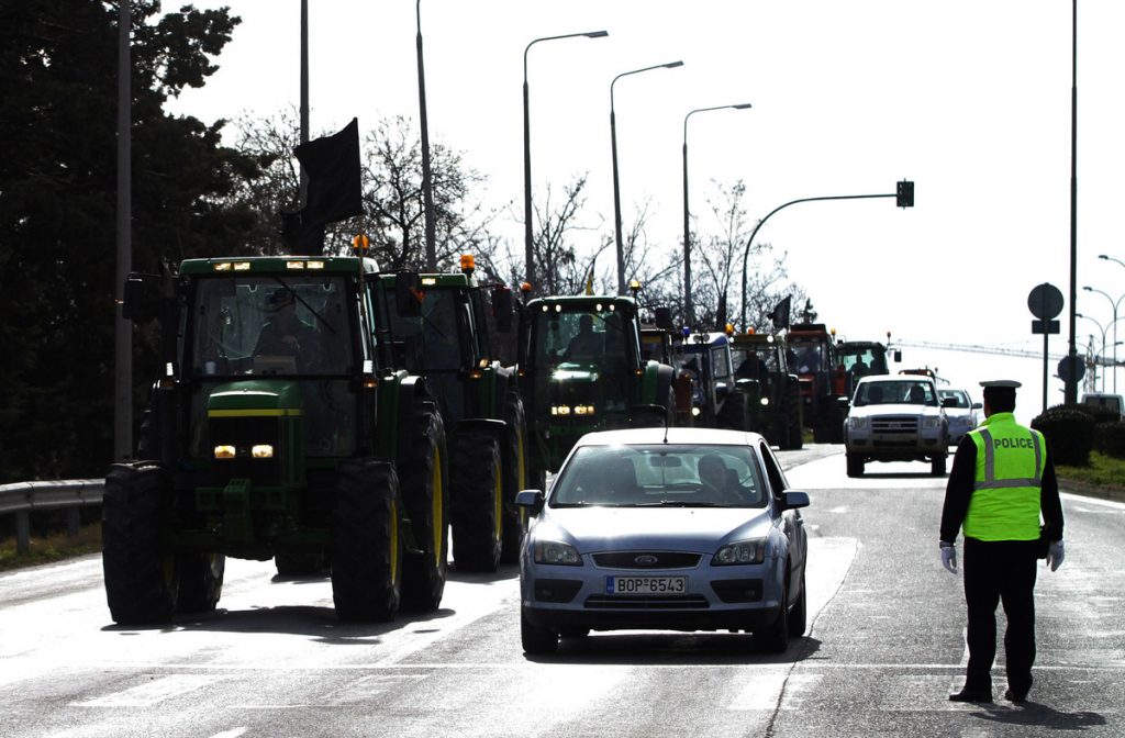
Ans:
[{"label": "distant green tractor just right of the blue tractor", "polygon": [[747,430],[783,450],[802,448],[801,384],[791,374],[784,341],[770,333],[739,333],[730,341],[735,377],[747,397]]}]

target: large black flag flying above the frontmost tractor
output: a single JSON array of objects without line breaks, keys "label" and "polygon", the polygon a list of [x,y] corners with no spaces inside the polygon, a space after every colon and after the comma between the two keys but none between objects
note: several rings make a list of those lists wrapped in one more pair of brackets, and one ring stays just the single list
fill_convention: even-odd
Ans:
[{"label": "large black flag flying above the frontmost tractor", "polygon": [[308,197],[302,210],[304,226],[322,226],[363,214],[357,118],[338,134],[297,146],[294,155],[308,174]]}]

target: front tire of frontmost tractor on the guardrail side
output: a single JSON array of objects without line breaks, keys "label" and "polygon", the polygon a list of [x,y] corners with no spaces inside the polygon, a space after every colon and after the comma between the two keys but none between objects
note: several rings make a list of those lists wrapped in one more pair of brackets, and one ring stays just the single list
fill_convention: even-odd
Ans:
[{"label": "front tire of frontmost tractor on the guardrail side", "polygon": [[115,464],[106,476],[101,566],[116,623],[165,623],[176,612],[177,559],[160,542],[169,486],[164,469],[154,464]]}]

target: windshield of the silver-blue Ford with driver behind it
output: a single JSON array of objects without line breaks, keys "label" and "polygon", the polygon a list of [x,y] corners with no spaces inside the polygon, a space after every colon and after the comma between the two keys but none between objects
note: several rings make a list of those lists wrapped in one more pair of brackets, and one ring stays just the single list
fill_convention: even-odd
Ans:
[{"label": "windshield of the silver-blue Ford with driver behind it", "polygon": [[552,507],[764,507],[750,447],[585,446],[559,472]]}]

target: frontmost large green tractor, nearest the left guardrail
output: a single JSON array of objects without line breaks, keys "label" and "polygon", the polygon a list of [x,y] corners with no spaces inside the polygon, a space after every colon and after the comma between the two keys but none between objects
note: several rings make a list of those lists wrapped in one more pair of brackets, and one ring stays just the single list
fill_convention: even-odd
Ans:
[{"label": "frontmost large green tractor, nearest the left guardrail", "polygon": [[[408,295],[407,295],[408,297]],[[446,585],[446,432],[378,326],[372,260],[195,259],[130,274],[124,315],[160,317],[164,371],[137,458],[102,513],[115,622],[214,610],[225,557],[331,568],[342,620],[435,610]]]}]

